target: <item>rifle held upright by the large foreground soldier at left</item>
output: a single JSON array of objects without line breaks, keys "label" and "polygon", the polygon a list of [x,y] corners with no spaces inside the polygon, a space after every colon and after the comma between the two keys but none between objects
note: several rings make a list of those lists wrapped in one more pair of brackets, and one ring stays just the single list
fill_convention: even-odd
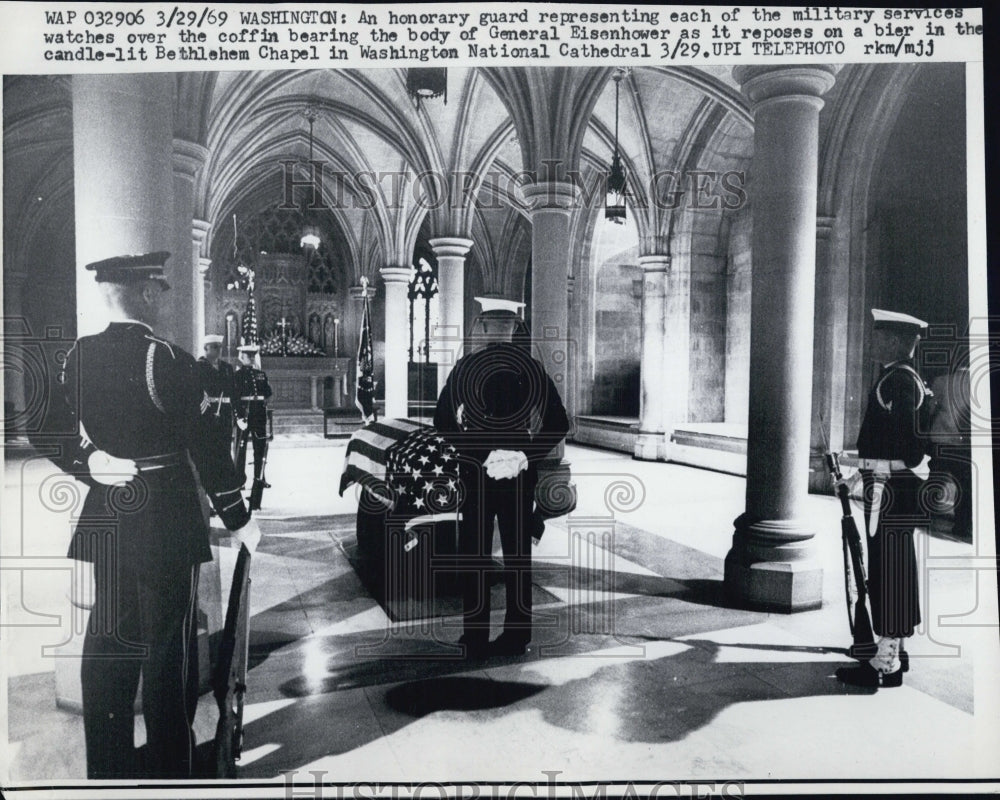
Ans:
[{"label": "rifle held upright by the large foreground soldier at left", "polygon": [[229,590],[219,659],[212,675],[212,693],[219,706],[219,723],[215,728],[215,774],[219,778],[236,777],[236,762],[243,749],[243,700],[250,645],[249,592],[250,551],[241,544]]}]

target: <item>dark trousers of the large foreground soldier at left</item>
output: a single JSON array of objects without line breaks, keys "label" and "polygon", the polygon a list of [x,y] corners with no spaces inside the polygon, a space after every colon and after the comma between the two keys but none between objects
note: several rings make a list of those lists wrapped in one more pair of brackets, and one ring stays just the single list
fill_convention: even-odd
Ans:
[{"label": "dark trousers of the large foreground soldier at left", "polygon": [[[94,607],[83,643],[88,778],[191,776],[198,705],[199,565],[138,575],[95,566]],[[142,675],[146,762],[133,744]]]}]

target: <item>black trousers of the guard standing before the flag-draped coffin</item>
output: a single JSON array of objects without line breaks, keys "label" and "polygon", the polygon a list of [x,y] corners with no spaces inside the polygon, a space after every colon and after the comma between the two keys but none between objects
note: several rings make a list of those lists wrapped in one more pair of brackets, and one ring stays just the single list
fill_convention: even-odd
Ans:
[{"label": "black trousers of the guard standing before the flag-draped coffin", "polygon": [[467,492],[462,503],[458,549],[462,565],[465,632],[490,631],[489,575],[493,570],[493,520],[500,528],[507,611],[504,630],[531,639],[531,511],[538,477],[529,467],[516,478],[493,480],[485,470],[463,465]]}]

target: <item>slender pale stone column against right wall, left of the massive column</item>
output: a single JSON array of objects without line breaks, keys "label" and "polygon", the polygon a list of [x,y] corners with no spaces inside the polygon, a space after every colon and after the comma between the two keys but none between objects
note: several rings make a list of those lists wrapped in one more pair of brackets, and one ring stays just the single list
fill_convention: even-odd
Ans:
[{"label": "slender pale stone column against right wall, left of the massive column", "polygon": [[642,268],[642,358],[639,436],[635,457],[655,461],[665,457],[665,386],[663,356],[667,318],[667,280],[670,256],[639,256]]}]

